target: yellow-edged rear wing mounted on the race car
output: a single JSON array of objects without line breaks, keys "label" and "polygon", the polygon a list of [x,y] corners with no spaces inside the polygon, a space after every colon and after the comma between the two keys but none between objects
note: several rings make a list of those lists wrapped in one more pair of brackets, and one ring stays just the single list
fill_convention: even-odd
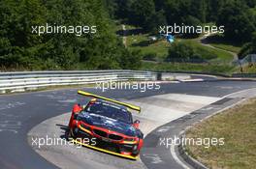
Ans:
[{"label": "yellow-edged rear wing mounted on the race car", "polygon": [[139,113],[141,112],[141,107],[136,106],[136,105],[132,105],[132,104],[129,104],[129,103],[125,103],[125,102],[117,101],[117,100],[114,100],[114,99],[109,99],[109,98],[97,96],[97,95],[94,95],[94,94],[91,94],[91,93],[88,93],[88,92],[84,92],[84,91],[78,91],[78,94],[80,94],[82,96],[85,96],[85,97],[95,98],[95,99],[105,99],[105,100],[108,100],[108,101],[111,101],[111,102],[114,102],[114,103],[126,106],[126,107],[128,107],[130,109],[136,110]]}]

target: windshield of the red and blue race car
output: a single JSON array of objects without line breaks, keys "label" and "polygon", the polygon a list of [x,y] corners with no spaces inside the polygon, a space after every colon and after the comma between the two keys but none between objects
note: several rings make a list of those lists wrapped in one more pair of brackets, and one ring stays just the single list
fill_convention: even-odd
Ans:
[{"label": "windshield of the red and blue race car", "polygon": [[89,104],[85,111],[90,114],[97,114],[101,116],[106,116],[108,118],[112,118],[117,121],[121,121],[127,124],[132,124],[132,115],[129,111],[124,108],[105,103],[105,102],[95,102],[93,104]]}]

